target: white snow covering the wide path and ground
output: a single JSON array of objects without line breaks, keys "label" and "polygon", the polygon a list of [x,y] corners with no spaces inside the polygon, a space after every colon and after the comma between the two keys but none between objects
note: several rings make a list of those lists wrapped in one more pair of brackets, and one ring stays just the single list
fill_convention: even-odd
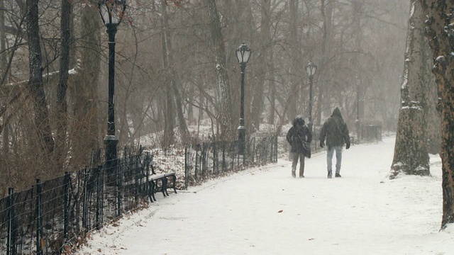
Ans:
[{"label": "white snow covering the wide path and ground", "polygon": [[[441,159],[431,177],[386,178],[394,137],[343,153],[326,179],[326,152],[248,169],[157,203],[91,234],[76,254],[453,254],[454,226],[439,232]],[[334,163],[333,163],[334,164]]]}]

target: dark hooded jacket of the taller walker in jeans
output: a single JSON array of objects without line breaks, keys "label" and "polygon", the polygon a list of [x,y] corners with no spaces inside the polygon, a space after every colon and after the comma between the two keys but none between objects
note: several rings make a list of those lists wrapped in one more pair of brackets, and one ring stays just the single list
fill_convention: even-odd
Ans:
[{"label": "dark hooded jacket of the taller walker in jeans", "polygon": [[347,124],[342,118],[341,110],[336,107],[333,114],[328,120],[323,123],[320,131],[320,142],[324,142],[326,138],[326,146],[343,146],[350,143],[350,135],[348,135]]}]

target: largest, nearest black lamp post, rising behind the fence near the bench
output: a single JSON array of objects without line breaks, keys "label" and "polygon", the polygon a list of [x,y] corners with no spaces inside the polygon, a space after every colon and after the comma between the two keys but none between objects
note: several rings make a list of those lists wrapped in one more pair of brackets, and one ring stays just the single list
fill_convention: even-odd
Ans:
[{"label": "largest, nearest black lamp post, rising behind the fence near the bench", "polygon": [[109,35],[109,118],[107,120],[107,135],[104,138],[106,145],[106,163],[109,169],[116,166],[116,145],[118,138],[115,135],[115,34],[118,25],[126,10],[126,0],[99,0],[99,13]]}]

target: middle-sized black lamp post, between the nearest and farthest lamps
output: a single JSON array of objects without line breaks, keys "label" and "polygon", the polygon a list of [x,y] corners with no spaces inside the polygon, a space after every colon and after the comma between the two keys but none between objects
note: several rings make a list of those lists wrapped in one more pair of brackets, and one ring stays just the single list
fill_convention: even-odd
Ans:
[{"label": "middle-sized black lamp post, between the nearest and farthest lamps", "polygon": [[238,140],[240,141],[240,155],[243,155],[243,163],[245,161],[245,136],[246,128],[244,124],[244,74],[246,64],[248,63],[251,50],[244,42],[236,49],[236,58],[241,67],[241,98],[240,98],[240,125],[238,126]]}]

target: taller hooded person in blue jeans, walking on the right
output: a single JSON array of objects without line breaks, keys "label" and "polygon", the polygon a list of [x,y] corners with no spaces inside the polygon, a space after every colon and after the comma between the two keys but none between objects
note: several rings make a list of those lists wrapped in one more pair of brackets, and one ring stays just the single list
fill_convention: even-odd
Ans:
[{"label": "taller hooded person in blue jeans, walking on the right", "polygon": [[336,177],[341,176],[342,148],[350,148],[350,135],[348,135],[347,124],[342,118],[341,110],[336,107],[333,114],[328,118],[320,131],[320,147],[327,146],[326,164],[328,169],[328,178],[333,176],[333,154],[336,151]]}]

